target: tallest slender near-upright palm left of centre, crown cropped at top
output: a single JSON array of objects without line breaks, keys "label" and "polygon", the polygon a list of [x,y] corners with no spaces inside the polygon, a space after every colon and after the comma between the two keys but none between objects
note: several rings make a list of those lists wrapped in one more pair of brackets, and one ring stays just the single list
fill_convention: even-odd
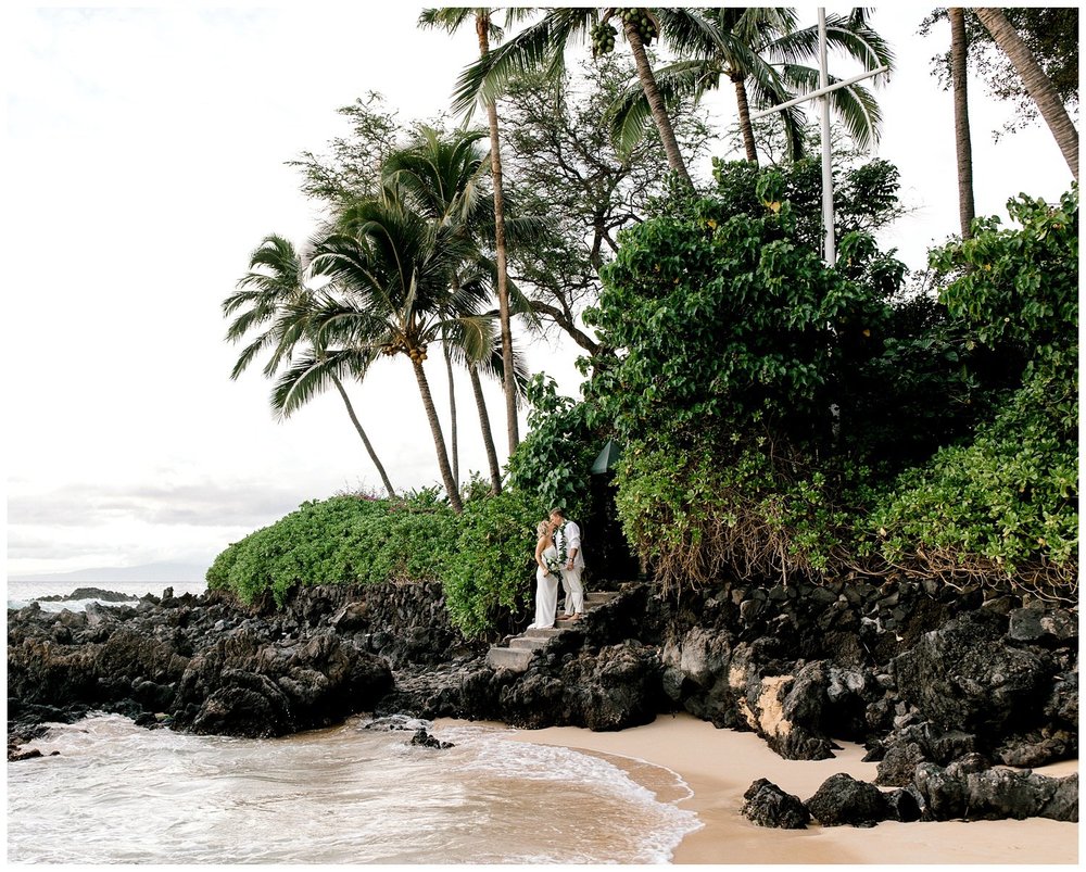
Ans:
[{"label": "tallest slender near-upright palm left of centre, crown cropped at top", "polygon": [[[491,37],[501,38],[502,30],[491,20],[488,8],[445,8],[427,9],[419,16],[419,24],[427,27],[443,27],[449,33],[459,29],[469,18],[475,23],[479,40],[479,55],[485,61],[491,53]],[[473,103],[475,101],[472,101]],[[505,200],[502,187],[502,150],[497,125],[497,103],[494,97],[483,100],[487,108],[487,121],[490,128],[490,165],[494,185],[494,248],[497,260],[497,307],[502,327],[502,354],[505,361],[505,414],[506,432],[509,440],[509,454],[516,451],[520,443],[519,422],[517,420],[517,394],[513,379],[513,327],[509,315],[509,268],[508,252],[505,238]]]}]

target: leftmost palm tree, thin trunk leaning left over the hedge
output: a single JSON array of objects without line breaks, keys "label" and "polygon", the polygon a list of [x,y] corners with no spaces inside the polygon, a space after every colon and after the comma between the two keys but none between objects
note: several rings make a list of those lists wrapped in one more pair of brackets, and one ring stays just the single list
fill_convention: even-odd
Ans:
[{"label": "leftmost palm tree, thin trunk leaning left over the hedge", "polygon": [[315,393],[332,384],[348,416],[362,439],[362,444],[377,468],[389,496],[396,495],[384,465],[377,456],[369,437],[354,410],[354,405],[343,387],[343,377],[361,380],[368,362],[346,350],[329,350],[319,341],[310,320],[314,292],[302,257],[293,244],[282,237],[270,235],[249,258],[249,273],[238,282],[238,291],[223,302],[226,317],[237,315],[227,329],[227,339],[240,342],[253,330],[255,339],[242,350],[231,379],[237,379],[263,352],[272,355],[264,367],[264,375],[274,376],[285,363],[290,363],[289,381],[296,390],[283,393],[280,383],[272,394],[272,408],[283,419],[310,400]]}]

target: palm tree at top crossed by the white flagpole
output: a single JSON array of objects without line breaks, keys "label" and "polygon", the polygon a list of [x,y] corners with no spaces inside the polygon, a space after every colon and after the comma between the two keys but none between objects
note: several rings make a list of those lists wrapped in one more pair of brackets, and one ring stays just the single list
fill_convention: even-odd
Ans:
[{"label": "palm tree at top crossed by the white flagpole", "polygon": [[[746,159],[757,164],[750,108],[769,109],[791,100],[797,91],[819,87],[818,67],[809,65],[818,58],[817,26],[797,28],[795,11],[781,7],[668,8],[656,13],[664,36],[680,58],[656,72],[666,99],[690,96],[699,100],[720,87],[722,79],[731,81]],[[861,14],[829,16],[826,45],[867,69],[893,65],[893,53]],[[831,84],[836,80],[830,79]],[[830,93],[830,101],[861,148],[875,140],[881,114],[866,88],[856,84],[838,88]],[[632,88],[613,116],[620,151],[640,139],[645,115],[644,98],[640,89]],[[781,115],[790,152],[798,156],[803,152],[803,111],[792,106]]]}]

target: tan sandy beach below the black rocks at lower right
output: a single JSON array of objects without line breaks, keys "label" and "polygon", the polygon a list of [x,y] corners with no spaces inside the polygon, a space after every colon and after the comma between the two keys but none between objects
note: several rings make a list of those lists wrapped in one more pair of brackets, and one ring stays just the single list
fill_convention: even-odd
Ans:
[{"label": "tan sandy beach below the black rocks at lower right", "polygon": [[[455,723],[455,721],[447,721]],[[439,721],[440,725],[441,721]],[[498,726],[500,724],[494,724]],[[873,782],[875,763],[861,762],[863,748],[838,743],[835,759],[782,760],[753,733],[717,730],[689,715],[660,716],[654,723],[617,733],[577,726],[510,730],[509,737],[540,745],[565,745],[617,757],[648,787],[652,770],[639,761],[678,773],[692,796],[681,808],[695,811],[704,826],[675,850],[675,863],[1077,863],[1078,825],[1034,818],[1025,821],[950,821],[881,823],[874,827],[772,830],[740,814],[743,793],[766,778],[800,799],[810,798],[825,779],[847,772]],[[626,762],[623,762],[623,759]],[[1078,762],[1064,761],[1035,771],[1066,775]]]}]

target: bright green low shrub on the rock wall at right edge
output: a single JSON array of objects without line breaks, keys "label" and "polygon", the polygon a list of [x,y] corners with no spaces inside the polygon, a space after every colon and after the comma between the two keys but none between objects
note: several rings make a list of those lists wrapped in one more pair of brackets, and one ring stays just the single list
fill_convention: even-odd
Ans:
[{"label": "bright green low shrub on the rock wall at right edge", "polygon": [[947,578],[1002,576],[1045,589],[1078,568],[1078,402],[1057,354],[968,444],[902,475],[868,522],[881,554]]}]

